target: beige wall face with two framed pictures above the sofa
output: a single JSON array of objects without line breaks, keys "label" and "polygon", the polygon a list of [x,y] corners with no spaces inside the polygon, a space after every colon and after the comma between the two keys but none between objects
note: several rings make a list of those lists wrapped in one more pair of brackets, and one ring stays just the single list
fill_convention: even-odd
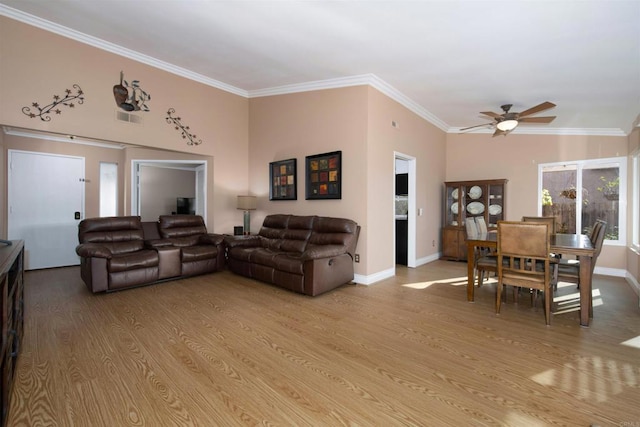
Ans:
[{"label": "beige wall face with two framed pictures above the sofa", "polygon": [[[353,219],[362,227],[357,274],[366,274],[364,263],[369,253],[365,184],[367,94],[367,87],[358,86],[254,98],[249,116],[249,181],[251,193],[258,196],[251,229],[259,229],[264,216],[271,213]],[[342,151],[342,199],[305,200],[305,157],[338,150]],[[291,158],[297,159],[298,200],[269,201],[269,162]],[[240,215],[239,212],[239,220]]]}]

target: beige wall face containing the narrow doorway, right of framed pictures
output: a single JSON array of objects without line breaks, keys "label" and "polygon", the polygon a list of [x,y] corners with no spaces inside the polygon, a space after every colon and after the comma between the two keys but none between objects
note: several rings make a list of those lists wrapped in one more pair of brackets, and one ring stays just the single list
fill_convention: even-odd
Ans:
[{"label": "beige wall face containing the narrow doorway, right of framed pictures", "polygon": [[[432,124],[369,88],[366,161],[367,225],[372,271],[395,267],[395,153],[416,159],[416,259],[440,249],[441,188],[445,178],[446,135]],[[393,127],[394,121],[397,127]],[[417,216],[418,209],[423,215]]]}]

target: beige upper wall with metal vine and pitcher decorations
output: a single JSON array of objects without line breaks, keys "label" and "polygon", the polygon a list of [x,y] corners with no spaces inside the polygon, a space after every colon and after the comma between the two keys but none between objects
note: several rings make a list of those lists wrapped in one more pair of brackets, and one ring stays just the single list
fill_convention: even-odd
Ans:
[{"label": "beige upper wall with metal vine and pitcher decorations", "polygon": [[[142,125],[114,118],[112,88],[121,70],[151,95],[151,111],[137,113]],[[60,106],[61,114],[48,122],[22,113],[33,102],[49,104],[73,84],[84,91],[83,104]],[[202,139],[201,145],[186,145],[166,122],[169,108]],[[207,225],[215,232],[233,229],[237,212],[230,208],[235,196],[248,190],[248,113],[244,97],[0,16],[0,125],[208,156],[213,160]],[[125,191],[128,186],[126,181]]]}]

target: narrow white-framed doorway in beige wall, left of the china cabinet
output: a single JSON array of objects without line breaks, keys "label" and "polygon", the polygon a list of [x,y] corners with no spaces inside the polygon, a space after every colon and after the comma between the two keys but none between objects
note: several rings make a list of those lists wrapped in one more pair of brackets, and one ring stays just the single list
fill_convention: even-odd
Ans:
[{"label": "narrow white-framed doorway in beige wall, left of the china cabinet", "polygon": [[416,158],[394,153],[396,264],[416,267]]}]

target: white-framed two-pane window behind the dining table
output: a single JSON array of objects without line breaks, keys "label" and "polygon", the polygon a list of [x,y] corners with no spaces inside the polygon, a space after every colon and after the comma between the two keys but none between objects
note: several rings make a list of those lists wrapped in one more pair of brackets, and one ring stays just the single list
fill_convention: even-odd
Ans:
[{"label": "white-framed two-pane window behind the dining table", "polygon": [[626,158],[540,164],[538,174],[540,212],[556,217],[558,232],[588,234],[602,219],[605,241],[625,244]]}]

